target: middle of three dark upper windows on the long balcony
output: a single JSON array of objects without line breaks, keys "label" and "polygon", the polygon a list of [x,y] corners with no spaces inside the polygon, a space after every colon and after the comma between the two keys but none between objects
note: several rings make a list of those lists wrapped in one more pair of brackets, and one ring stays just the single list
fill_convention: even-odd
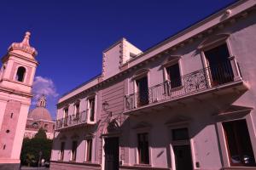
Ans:
[{"label": "middle of three dark upper windows on the long balcony", "polygon": [[171,65],[166,67],[167,78],[170,81],[171,88],[177,88],[182,85],[179,65]]}]

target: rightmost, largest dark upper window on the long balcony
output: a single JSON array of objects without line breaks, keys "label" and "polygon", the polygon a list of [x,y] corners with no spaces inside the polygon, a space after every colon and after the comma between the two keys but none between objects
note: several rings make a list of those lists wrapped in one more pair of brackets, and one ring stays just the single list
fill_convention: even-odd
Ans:
[{"label": "rightmost, largest dark upper window on the long balcony", "polygon": [[211,73],[212,86],[232,82],[234,74],[230,63],[230,52],[226,43],[204,51],[207,71]]}]

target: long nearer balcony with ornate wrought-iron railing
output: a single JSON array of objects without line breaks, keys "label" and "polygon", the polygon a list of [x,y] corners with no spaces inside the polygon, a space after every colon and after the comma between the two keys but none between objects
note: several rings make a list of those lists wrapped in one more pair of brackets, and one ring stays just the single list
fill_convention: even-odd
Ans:
[{"label": "long nearer balcony with ornate wrought-iron railing", "polygon": [[[247,90],[247,83],[242,80],[241,71],[235,57],[218,65],[208,66],[191,72],[175,81],[166,81],[148,88],[148,91],[125,96],[125,114],[133,115],[153,105],[170,104],[173,101],[209,94],[220,89],[239,88]],[[132,112],[131,112],[132,111]],[[143,111],[142,111],[143,112]]]}]

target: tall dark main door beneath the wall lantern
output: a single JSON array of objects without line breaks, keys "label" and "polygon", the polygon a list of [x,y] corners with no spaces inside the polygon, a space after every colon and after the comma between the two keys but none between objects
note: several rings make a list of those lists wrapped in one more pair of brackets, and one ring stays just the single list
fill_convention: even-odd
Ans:
[{"label": "tall dark main door beneath the wall lantern", "polygon": [[119,170],[119,138],[106,138],[105,170]]}]

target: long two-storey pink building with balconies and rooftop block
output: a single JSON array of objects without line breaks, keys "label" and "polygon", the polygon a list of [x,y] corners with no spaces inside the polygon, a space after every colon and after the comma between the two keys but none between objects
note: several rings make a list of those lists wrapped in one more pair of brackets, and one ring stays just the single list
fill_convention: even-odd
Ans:
[{"label": "long two-storey pink building with balconies and rooftop block", "polygon": [[255,5],[103,51],[102,74],[57,104],[50,169],[256,169]]}]

